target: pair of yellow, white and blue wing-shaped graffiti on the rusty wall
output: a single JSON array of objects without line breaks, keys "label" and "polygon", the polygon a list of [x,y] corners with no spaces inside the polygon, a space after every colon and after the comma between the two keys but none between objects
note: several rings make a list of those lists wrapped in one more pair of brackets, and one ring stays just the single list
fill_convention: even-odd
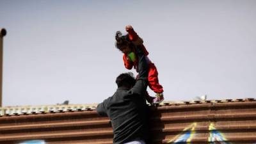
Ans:
[{"label": "pair of yellow, white and blue wing-shaped graffiti on the rusty wall", "polygon": [[[172,140],[168,141],[168,143],[191,143],[191,140],[195,137],[196,131],[196,123],[193,123],[183,129],[183,131],[175,136]],[[222,134],[220,131],[218,131],[215,127],[214,124],[211,123],[209,125],[209,138],[208,142],[212,144],[231,144],[227,142],[227,138],[225,138],[224,134]]]}]

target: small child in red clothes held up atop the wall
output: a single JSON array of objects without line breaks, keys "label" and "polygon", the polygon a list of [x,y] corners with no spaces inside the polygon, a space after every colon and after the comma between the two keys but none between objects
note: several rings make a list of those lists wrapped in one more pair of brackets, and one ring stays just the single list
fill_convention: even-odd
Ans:
[{"label": "small child in red clothes held up atop the wall", "polygon": [[116,48],[124,53],[123,60],[125,68],[131,70],[132,67],[138,72],[138,61],[136,58],[136,53],[134,51],[135,47],[140,48],[148,61],[148,86],[151,90],[156,93],[156,98],[152,98],[147,94],[147,101],[152,104],[159,104],[164,100],[163,97],[163,86],[158,82],[158,72],[154,63],[148,59],[148,51],[143,45],[143,40],[137,35],[131,25],[125,27],[128,32],[127,35],[122,35],[120,31],[116,31]]}]

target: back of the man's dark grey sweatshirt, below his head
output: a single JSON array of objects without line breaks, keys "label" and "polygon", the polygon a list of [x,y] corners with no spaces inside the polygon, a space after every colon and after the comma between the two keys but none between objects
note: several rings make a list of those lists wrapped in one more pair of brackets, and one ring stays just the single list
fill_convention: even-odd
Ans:
[{"label": "back of the man's dark grey sweatshirt, below his head", "polygon": [[146,140],[147,104],[145,98],[128,88],[118,88],[104,100],[114,132],[114,143]]}]

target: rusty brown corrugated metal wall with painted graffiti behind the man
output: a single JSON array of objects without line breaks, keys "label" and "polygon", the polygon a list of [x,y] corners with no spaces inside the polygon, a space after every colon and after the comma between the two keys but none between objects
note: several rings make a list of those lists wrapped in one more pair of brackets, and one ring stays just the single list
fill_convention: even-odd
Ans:
[{"label": "rusty brown corrugated metal wall with painted graffiti behind the man", "polygon": [[[150,143],[256,143],[256,101],[165,103],[150,108]],[[95,110],[0,117],[0,143],[110,144],[109,119]]]}]

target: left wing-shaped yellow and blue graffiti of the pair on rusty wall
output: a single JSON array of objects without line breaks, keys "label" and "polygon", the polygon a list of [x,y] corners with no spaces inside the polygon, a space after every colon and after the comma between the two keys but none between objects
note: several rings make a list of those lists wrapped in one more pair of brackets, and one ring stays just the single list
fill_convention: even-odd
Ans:
[{"label": "left wing-shaped yellow and blue graffiti of the pair on rusty wall", "polygon": [[183,129],[183,131],[179,135],[175,136],[175,138],[170,140],[168,143],[189,143],[195,136],[195,127],[196,123],[189,125],[189,127]]}]

